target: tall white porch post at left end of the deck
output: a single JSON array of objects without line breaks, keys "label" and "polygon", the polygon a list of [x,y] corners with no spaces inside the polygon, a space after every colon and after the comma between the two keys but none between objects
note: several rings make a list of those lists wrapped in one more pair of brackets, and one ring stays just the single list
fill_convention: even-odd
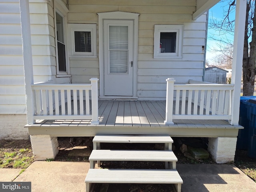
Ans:
[{"label": "tall white porch post at left end of the deck", "polygon": [[22,36],[27,124],[33,124],[34,123],[34,119],[33,119],[34,97],[33,97],[31,85],[34,84],[34,79],[33,79],[30,16],[29,16],[28,0],[20,0],[20,24],[21,24],[21,36]]}]

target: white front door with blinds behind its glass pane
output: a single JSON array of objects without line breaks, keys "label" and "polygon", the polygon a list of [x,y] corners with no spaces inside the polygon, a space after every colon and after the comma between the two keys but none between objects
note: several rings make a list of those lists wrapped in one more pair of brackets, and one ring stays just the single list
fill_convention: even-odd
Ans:
[{"label": "white front door with blinds behind its glass pane", "polygon": [[133,94],[133,21],[104,20],[104,95]]}]

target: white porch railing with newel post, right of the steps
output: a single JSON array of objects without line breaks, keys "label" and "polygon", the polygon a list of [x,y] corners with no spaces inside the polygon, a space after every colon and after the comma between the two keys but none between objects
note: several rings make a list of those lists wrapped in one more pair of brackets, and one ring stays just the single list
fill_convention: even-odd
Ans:
[{"label": "white porch railing with newel post, right of the steps", "polygon": [[188,84],[174,84],[174,78],[168,78],[166,81],[165,124],[174,124],[174,119],[231,120],[233,84],[192,80]]}]

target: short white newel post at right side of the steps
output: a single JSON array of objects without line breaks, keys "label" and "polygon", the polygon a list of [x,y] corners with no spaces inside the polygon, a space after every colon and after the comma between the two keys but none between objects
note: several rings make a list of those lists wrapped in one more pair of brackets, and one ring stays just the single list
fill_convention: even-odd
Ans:
[{"label": "short white newel post at right side of the steps", "polygon": [[166,125],[173,125],[172,122],[172,109],[173,109],[173,96],[174,96],[174,78],[168,78],[166,87],[166,115],[164,123]]}]

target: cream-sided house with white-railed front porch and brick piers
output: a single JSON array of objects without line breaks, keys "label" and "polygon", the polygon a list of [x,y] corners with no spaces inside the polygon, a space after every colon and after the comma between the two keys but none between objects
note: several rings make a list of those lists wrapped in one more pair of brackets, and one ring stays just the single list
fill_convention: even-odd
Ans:
[{"label": "cream-sided house with white-railed front porch and brick piers", "polygon": [[207,11],[217,2],[0,2],[1,138],[29,134],[44,160],[62,136],[207,137],[216,162],[234,160],[246,1],[236,2],[226,86],[202,82]]}]

